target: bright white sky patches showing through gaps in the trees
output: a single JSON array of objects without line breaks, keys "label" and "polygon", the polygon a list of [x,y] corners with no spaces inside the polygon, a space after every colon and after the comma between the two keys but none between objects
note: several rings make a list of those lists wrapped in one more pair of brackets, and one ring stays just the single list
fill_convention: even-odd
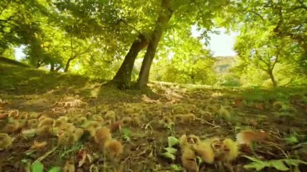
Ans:
[{"label": "bright white sky patches showing through gaps in the trees", "polygon": [[[233,50],[235,38],[238,35],[236,32],[225,33],[225,29],[216,29],[220,31],[220,34],[210,34],[211,40],[209,42],[209,48],[214,52],[214,56],[234,56],[236,55]],[[192,35],[197,36],[199,33],[195,27],[191,29]],[[20,60],[25,54],[22,52],[22,48],[15,48],[16,60]]]}]

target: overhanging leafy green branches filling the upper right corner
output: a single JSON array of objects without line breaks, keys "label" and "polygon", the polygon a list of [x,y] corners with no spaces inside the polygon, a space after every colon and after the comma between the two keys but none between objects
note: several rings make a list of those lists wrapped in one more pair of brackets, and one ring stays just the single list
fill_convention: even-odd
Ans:
[{"label": "overhanging leafy green branches filling the upper right corner", "polygon": [[[295,64],[297,72],[306,76],[306,25],[307,4],[301,0],[290,1],[236,1],[232,6],[225,9],[223,17],[217,20],[220,26],[228,29],[253,30],[259,25],[265,26],[266,30],[273,32],[276,39],[290,39],[291,49],[295,49],[297,58],[290,58]],[[295,48],[294,48],[295,46]]]}]

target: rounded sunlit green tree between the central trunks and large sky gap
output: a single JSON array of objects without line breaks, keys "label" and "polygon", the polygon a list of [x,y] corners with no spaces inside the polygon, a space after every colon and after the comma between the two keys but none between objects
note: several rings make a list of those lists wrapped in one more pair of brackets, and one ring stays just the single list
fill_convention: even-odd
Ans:
[{"label": "rounded sunlit green tree between the central trunks and large sky gap", "polygon": [[158,47],[158,60],[151,68],[150,78],[177,83],[213,84],[215,59],[211,51],[204,49],[189,30],[174,34],[168,35]]}]

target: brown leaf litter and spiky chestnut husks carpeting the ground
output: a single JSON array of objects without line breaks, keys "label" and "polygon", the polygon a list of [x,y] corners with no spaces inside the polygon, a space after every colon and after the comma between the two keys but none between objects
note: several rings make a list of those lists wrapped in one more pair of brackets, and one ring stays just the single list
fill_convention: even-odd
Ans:
[{"label": "brown leaf litter and spiky chestnut husks carpeting the ground", "polygon": [[[94,95],[55,90],[39,97],[2,92],[1,169],[15,171],[25,159],[66,171],[306,167],[305,101],[253,100],[243,89],[149,86],[122,94],[113,88],[93,88]],[[40,99],[46,106],[35,109]]]}]

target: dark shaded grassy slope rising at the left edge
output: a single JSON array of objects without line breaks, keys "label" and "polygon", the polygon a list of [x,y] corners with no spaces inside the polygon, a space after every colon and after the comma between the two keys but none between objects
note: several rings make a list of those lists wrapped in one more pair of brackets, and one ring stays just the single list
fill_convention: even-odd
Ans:
[{"label": "dark shaded grassy slope rising at the left edge", "polygon": [[[8,95],[75,94],[90,81],[80,75],[52,73],[32,68],[1,64],[0,93]],[[88,91],[84,91],[86,94]]]}]

